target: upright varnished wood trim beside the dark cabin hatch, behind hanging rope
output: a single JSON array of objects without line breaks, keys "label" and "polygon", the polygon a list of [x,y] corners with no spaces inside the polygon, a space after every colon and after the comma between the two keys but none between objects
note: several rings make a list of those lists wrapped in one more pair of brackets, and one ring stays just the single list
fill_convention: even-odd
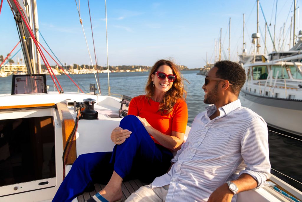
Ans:
[{"label": "upright varnished wood trim beside the dark cabin hatch, behind hanging rope", "polygon": [[[67,143],[67,139],[71,134],[72,129],[75,125],[75,121],[65,103],[57,103],[56,106],[58,108],[59,118],[62,122],[62,137],[63,137],[63,148],[64,148]],[[67,150],[65,153],[65,157],[66,154],[67,154]],[[73,140],[72,147],[70,149],[66,164],[73,164],[74,161],[76,161],[76,140]]]}]

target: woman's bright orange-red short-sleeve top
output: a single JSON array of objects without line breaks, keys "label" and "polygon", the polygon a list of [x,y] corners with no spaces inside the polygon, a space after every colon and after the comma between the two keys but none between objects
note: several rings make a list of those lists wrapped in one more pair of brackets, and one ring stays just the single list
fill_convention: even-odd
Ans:
[{"label": "woman's bright orange-red short-sleeve top", "polygon": [[[171,135],[172,131],[185,133],[188,123],[188,107],[185,101],[178,99],[169,114],[160,114],[159,102],[147,99],[146,95],[132,98],[129,104],[128,114],[145,118],[156,130],[166,135]],[[150,135],[153,141],[158,141]]]}]

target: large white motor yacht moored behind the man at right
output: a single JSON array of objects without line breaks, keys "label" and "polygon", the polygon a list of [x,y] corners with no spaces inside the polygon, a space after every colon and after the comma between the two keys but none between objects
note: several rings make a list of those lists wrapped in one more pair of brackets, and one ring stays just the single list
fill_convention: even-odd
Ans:
[{"label": "large white motor yacht moored behind the man at right", "polygon": [[[301,32],[301,31],[300,31]],[[302,35],[295,47],[302,48]],[[243,105],[261,115],[271,127],[302,136],[301,50],[273,52],[267,62],[243,65],[247,80],[241,89]],[[281,57],[282,55],[289,57]]]}]

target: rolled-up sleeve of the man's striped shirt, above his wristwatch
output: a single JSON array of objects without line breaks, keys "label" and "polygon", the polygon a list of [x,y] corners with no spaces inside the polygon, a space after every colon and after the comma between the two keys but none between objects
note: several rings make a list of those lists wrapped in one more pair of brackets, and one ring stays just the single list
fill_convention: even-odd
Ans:
[{"label": "rolled-up sleeve of the man's striped shirt, above his wristwatch", "polygon": [[258,182],[256,188],[265,185],[265,180],[271,170],[268,152],[268,130],[261,117],[252,119],[246,133],[241,139],[241,155],[246,168],[239,175],[246,173]]}]

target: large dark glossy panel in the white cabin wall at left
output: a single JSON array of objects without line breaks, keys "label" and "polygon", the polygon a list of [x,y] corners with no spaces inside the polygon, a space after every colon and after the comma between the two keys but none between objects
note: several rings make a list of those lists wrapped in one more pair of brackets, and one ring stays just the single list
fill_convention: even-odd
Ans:
[{"label": "large dark glossy panel in the white cabin wall at left", "polygon": [[56,177],[53,117],[0,120],[0,187]]}]

